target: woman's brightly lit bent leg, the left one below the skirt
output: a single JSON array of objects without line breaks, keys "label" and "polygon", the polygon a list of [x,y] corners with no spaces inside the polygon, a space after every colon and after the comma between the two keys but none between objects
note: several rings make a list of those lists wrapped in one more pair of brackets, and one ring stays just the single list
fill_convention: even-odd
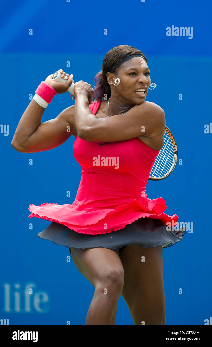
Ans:
[{"label": "woman's brightly lit bent leg, the left one below the skirt", "polygon": [[81,274],[95,287],[85,324],[115,324],[124,285],[118,249],[71,247],[71,256]]}]

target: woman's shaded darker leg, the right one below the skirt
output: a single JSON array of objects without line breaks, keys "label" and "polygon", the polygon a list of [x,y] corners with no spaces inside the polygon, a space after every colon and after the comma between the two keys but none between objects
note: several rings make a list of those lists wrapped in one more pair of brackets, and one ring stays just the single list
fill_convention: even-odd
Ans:
[{"label": "woman's shaded darker leg, the right one below the skirt", "polygon": [[122,296],[135,324],[166,324],[162,246],[127,246],[120,251],[124,268]]}]

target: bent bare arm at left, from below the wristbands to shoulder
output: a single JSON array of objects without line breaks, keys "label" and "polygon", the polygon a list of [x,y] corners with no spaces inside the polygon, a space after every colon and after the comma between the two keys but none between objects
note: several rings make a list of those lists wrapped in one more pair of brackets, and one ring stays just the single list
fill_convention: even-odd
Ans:
[{"label": "bent bare arm at left, from below the wristbands to shoulder", "polygon": [[21,117],[11,145],[19,152],[47,151],[64,143],[76,129],[74,105],[42,123],[45,108],[32,100]]}]

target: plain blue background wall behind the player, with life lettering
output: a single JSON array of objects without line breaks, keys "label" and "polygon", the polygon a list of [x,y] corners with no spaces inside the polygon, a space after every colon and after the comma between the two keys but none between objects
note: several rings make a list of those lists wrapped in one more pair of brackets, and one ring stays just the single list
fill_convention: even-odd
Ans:
[{"label": "plain blue background wall behind the player, with life lettering", "polygon": [[[67,262],[68,248],[37,237],[50,222],[28,218],[31,203],[74,201],[80,182],[72,154],[75,138],[38,153],[17,152],[11,141],[29,94],[42,80],[62,68],[75,82],[94,85],[105,54],[121,44],[148,57],[157,87],[146,100],[164,109],[182,159],[167,179],[148,182],[148,197],[163,197],[167,214],[193,222],[193,232],[163,251],[167,324],[204,324],[212,316],[212,134],[204,133],[204,125],[212,122],[210,6],[205,0],[1,1],[0,124],[9,125],[9,135],[0,133],[0,319],[9,324],[85,324],[94,287],[72,259]],[[193,27],[193,38],[166,36],[171,25]],[[69,93],[56,95],[43,122],[73,103]],[[33,288],[33,295],[26,287]],[[116,324],[134,324],[122,296]]]}]

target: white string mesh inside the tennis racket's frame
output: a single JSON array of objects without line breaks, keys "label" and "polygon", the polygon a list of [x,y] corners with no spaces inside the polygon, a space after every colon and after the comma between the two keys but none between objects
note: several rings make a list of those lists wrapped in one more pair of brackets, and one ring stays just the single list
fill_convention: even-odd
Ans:
[{"label": "white string mesh inside the tennis racket's frame", "polygon": [[150,176],[157,178],[165,176],[173,167],[174,159],[173,144],[167,132],[165,132],[164,145],[156,157]]}]

